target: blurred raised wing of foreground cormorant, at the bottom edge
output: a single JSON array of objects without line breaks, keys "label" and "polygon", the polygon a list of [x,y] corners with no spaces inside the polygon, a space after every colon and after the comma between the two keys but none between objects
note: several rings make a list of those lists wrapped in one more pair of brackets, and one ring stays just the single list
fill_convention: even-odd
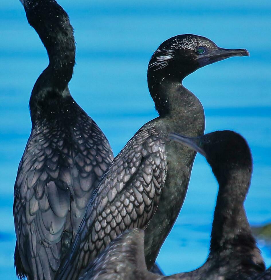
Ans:
[{"label": "blurred raised wing of foreground cormorant, at the bottom edge", "polygon": [[78,280],[138,279],[136,272],[147,273],[144,256],[144,231],[132,229],[121,233],[82,271]]}]

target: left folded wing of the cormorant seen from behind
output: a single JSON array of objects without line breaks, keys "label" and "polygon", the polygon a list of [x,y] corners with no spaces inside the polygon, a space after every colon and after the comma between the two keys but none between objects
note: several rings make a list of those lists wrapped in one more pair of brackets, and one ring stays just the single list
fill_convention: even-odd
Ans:
[{"label": "left folded wing of the cormorant seen from behind", "polygon": [[50,147],[51,141],[33,131],[14,187],[17,249],[26,273],[35,275],[34,279],[51,279],[58,269],[70,208],[70,190],[61,180],[64,173],[58,165],[60,154]]}]

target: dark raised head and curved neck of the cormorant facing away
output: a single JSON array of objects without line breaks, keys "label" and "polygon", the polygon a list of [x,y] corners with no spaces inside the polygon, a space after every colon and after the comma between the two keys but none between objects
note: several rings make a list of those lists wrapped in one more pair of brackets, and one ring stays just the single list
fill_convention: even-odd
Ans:
[{"label": "dark raised head and curved neck of the cormorant facing away", "polygon": [[44,44],[49,65],[36,81],[30,98],[31,118],[52,100],[67,97],[75,63],[73,28],[67,13],[54,0],[21,0],[29,24]]}]

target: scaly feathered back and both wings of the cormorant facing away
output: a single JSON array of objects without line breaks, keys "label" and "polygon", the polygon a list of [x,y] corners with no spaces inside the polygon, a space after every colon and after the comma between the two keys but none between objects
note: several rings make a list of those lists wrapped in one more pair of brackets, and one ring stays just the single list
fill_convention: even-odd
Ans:
[{"label": "scaly feathered back and both wings of the cormorant facing away", "polygon": [[82,113],[75,119],[71,133],[49,125],[34,128],[18,169],[15,266],[21,267],[21,259],[26,273],[37,279],[54,278],[92,191],[113,159],[96,123]]}]

